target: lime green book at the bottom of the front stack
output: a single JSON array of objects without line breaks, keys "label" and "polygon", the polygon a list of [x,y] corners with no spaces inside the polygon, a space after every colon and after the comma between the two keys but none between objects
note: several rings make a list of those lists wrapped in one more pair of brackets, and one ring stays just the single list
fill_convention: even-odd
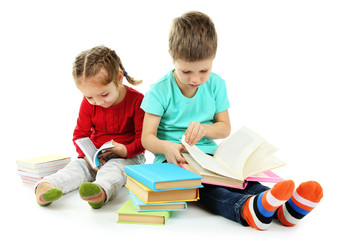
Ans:
[{"label": "lime green book at the bottom of the front stack", "polygon": [[164,225],[171,215],[170,211],[138,212],[129,199],[117,211],[117,223]]}]

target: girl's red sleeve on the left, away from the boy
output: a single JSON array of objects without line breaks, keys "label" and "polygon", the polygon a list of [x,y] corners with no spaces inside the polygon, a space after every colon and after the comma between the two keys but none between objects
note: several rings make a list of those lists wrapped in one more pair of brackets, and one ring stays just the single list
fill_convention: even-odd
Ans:
[{"label": "girl's red sleeve on the left, away from the boy", "polygon": [[78,145],[75,143],[75,141],[80,138],[91,136],[92,128],[91,113],[92,113],[91,104],[89,104],[89,102],[84,98],[79,109],[77,125],[75,130],[73,131],[73,144],[76,147],[76,151],[78,153],[79,158],[82,158],[85,155],[82,152],[82,150],[78,147]]}]

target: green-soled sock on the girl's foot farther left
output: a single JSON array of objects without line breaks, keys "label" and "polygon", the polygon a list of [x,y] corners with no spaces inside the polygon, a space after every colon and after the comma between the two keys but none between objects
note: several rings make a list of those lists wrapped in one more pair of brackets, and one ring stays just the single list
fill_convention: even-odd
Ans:
[{"label": "green-soled sock on the girl's foot farther left", "polygon": [[36,188],[36,198],[40,206],[48,206],[62,195],[62,190],[47,182],[40,183]]}]

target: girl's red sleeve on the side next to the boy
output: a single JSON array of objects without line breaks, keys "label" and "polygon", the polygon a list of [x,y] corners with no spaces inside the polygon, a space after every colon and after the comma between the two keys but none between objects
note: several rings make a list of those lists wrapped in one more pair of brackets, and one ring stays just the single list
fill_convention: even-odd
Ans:
[{"label": "girl's red sleeve on the side next to the boy", "polygon": [[142,125],[144,118],[144,111],[140,108],[143,95],[140,95],[134,105],[134,126],[135,126],[135,139],[133,142],[125,145],[127,149],[127,158],[134,157],[144,152],[144,148],[141,143]]}]

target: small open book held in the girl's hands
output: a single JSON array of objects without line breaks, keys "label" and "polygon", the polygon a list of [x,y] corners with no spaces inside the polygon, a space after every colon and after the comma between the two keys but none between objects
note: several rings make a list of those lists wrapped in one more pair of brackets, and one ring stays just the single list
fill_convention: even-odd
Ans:
[{"label": "small open book held in the girl's hands", "polygon": [[77,139],[75,143],[83,151],[86,158],[89,160],[92,168],[97,168],[100,166],[98,155],[105,152],[105,149],[115,147],[115,145],[113,145],[109,141],[109,142],[104,143],[99,149],[97,149],[96,146],[88,137]]}]

